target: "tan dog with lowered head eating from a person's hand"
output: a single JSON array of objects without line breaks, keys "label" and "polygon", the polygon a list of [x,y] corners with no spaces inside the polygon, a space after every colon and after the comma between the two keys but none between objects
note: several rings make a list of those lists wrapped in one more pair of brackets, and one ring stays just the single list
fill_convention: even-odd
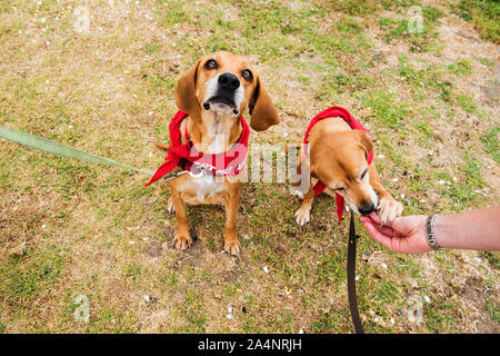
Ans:
[{"label": "tan dog with lowered head eating from a person's hand", "polygon": [[[332,197],[336,192],[341,195],[357,214],[368,215],[377,210],[383,222],[401,215],[402,205],[380,184],[374,162],[368,165],[368,152],[373,149],[373,144],[364,131],[352,130],[341,118],[329,118],[313,126],[308,142],[309,155],[303,164],[310,170],[307,177],[310,185],[304,195],[297,192],[303,196],[302,206],[296,211],[297,224],[302,226],[310,220],[313,186],[318,179],[327,186],[326,194]],[[300,157],[302,151],[298,172],[302,169]]]}]

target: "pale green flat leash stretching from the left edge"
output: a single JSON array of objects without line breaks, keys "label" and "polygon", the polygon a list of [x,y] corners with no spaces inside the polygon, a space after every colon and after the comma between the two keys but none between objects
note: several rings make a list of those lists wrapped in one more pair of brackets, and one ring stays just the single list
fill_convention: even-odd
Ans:
[{"label": "pale green flat leash stretching from the left edge", "polygon": [[8,129],[4,127],[0,127],[0,137],[3,137],[4,139],[8,139],[10,141],[14,141],[14,142],[28,146],[28,147],[32,147],[32,148],[46,151],[46,152],[78,159],[78,160],[81,160],[81,161],[88,162],[88,164],[119,167],[119,168],[123,168],[123,169],[139,171],[141,174],[149,175],[149,176],[154,175],[154,171],[149,170],[149,169],[141,169],[141,168],[136,168],[132,166],[123,165],[123,164],[120,164],[120,162],[109,159],[109,158],[88,154],[88,152],[84,152],[77,148],[72,148],[72,147],[69,147],[69,146],[66,146],[66,145],[62,145],[59,142],[51,141],[47,138],[41,138],[41,137],[33,136],[30,134]]}]

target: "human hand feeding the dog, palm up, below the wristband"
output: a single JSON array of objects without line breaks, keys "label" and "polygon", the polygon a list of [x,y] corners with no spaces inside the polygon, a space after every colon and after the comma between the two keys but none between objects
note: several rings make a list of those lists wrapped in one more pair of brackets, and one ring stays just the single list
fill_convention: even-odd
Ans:
[{"label": "human hand feeding the dog, palm up, below the wristband", "polygon": [[373,211],[368,216],[360,216],[360,220],[371,237],[396,253],[423,254],[432,249],[427,240],[424,215],[403,216],[382,225]]}]

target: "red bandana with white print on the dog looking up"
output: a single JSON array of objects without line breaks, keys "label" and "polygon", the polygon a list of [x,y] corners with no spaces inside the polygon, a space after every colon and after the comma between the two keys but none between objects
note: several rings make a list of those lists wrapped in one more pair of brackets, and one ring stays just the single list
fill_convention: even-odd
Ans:
[{"label": "red bandana with white print on the dog looking up", "polygon": [[158,168],[146,186],[157,181],[177,166],[194,174],[198,172],[197,168],[202,168],[204,170],[210,170],[214,176],[237,176],[243,169],[247,162],[248,137],[250,135],[250,129],[248,128],[243,116],[241,116],[243,131],[238,141],[229,151],[217,155],[199,152],[189,138],[188,129],[186,129],[184,132],[186,145],[182,145],[180,126],[182,120],[187,117],[188,113],[179,110],[170,122],[169,131],[171,142],[167,150],[164,164]]}]

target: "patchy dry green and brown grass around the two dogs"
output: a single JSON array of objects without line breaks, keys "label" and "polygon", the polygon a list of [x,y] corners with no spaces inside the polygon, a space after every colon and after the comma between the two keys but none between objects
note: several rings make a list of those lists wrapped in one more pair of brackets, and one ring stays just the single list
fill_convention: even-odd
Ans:
[{"label": "patchy dry green and brown grass around the two dogs", "polygon": [[[460,53],[442,41],[459,6],[477,9],[454,4],[91,0],[90,27],[78,33],[69,1],[3,1],[0,125],[154,169],[164,152],[152,142],[168,140],[178,78],[227,49],[251,56],[282,118],[251,142],[299,141],[310,118],[340,105],[369,128],[382,182],[404,214],[491,206],[498,101],[468,82],[494,83],[498,58],[467,38]],[[406,33],[411,6],[422,9],[422,32]],[[474,11],[470,21],[490,16]],[[456,21],[460,32],[469,19]],[[189,207],[199,240],[177,253],[168,247],[176,220],[166,214],[167,187],[3,140],[0,158],[0,333],[352,332],[347,225],[326,196],[299,227],[300,201],[286,184],[246,184],[241,257],[221,253],[224,211],[212,206]],[[357,224],[367,330],[498,327],[497,253],[397,255]],[[154,244],[163,244],[159,257],[149,253]],[[488,285],[486,306],[461,293],[470,276]],[[74,319],[77,296],[89,299],[89,323]],[[408,317],[413,297],[421,323]]]}]

